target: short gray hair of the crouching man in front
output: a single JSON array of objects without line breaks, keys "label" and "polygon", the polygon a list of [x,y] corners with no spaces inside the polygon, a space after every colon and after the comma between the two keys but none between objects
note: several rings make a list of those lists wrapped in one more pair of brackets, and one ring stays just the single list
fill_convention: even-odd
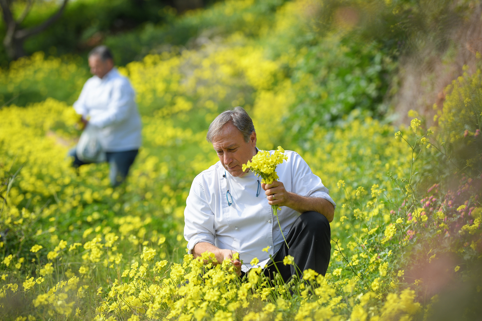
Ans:
[{"label": "short gray hair of the crouching man in front", "polygon": [[248,142],[254,130],[253,120],[242,107],[234,107],[217,116],[209,125],[206,140],[210,143],[221,136],[224,125],[231,123],[241,131],[244,142]]}]

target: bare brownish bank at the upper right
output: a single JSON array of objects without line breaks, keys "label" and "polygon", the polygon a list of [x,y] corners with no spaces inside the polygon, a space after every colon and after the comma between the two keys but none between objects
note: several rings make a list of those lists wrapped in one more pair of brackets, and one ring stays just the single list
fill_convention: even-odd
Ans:
[{"label": "bare brownish bank at the upper right", "polygon": [[[424,116],[427,126],[435,125],[434,104],[442,107],[444,89],[464,71],[475,72],[482,63],[482,6],[474,6],[465,21],[454,22],[444,39],[425,39],[417,44],[416,53],[402,57],[398,86],[393,97],[395,124],[410,124],[407,113],[416,110]],[[477,54],[479,52],[479,54]],[[464,70],[464,65],[466,69]]]}]

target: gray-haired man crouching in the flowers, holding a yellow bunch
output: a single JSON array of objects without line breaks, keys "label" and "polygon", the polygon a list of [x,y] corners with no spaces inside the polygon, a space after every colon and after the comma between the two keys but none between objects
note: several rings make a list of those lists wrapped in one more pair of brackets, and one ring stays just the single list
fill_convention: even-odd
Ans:
[{"label": "gray-haired man crouching in the flowers, holding a yellow bunch", "polygon": [[[243,166],[258,149],[253,121],[241,107],[217,116],[206,139],[219,162],[194,179],[187,197],[184,237],[189,253],[199,257],[211,252],[217,262],[230,259],[239,276],[258,266],[270,278],[279,271],[285,282],[307,269],[325,275],[336,205],[303,158],[281,147],[270,151],[281,151],[281,162],[286,161],[277,168],[279,180],[260,182]],[[276,207],[281,207],[278,217]],[[286,264],[293,258],[295,264]]]}]

